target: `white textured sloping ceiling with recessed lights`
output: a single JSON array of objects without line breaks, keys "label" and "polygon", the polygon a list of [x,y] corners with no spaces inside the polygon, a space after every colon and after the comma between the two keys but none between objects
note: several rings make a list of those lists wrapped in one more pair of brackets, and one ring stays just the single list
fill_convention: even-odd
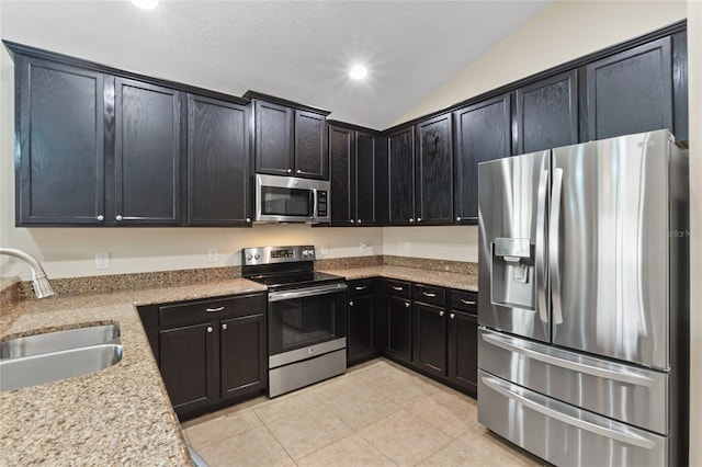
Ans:
[{"label": "white textured sloping ceiling with recessed lights", "polygon": [[[0,0],[2,38],[384,129],[551,1]],[[348,78],[354,61],[369,78]]]}]

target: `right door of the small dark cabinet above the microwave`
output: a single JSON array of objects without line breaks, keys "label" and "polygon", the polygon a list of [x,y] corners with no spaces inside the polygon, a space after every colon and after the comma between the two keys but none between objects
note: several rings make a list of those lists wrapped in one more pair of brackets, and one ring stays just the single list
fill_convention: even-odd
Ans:
[{"label": "right door of the small dark cabinet above the microwave", "polygon": [[329,180],[324,115],[295,111],[295,176]]}]

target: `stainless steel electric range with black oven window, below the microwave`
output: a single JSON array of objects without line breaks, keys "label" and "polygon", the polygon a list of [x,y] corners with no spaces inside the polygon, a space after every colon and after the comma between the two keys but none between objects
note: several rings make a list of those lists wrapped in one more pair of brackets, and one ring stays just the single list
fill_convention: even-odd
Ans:
[{"label": "stainless steel electric range with black oven window, below the microwave", "polygon": [[314,271],[315,248],[241,251],[241,275],[268,286],[268,396],[312,385],[347,369],[347,285]]}]

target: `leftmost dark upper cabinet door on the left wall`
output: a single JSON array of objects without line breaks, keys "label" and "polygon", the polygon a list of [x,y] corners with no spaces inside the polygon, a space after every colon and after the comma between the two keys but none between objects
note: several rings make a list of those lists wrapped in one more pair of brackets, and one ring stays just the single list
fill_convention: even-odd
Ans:
[{"label": "leftmost dark upper cabinet door on the left wall", "polygon": [[104,76],[15,61],[16,225],[102,225]]}]

